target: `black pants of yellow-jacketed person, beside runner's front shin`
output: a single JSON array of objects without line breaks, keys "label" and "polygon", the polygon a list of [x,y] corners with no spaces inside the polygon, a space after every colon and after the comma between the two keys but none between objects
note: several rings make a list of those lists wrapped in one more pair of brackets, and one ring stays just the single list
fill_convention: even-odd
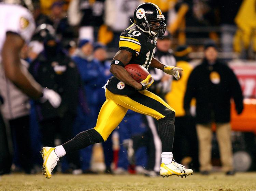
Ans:
[{"label": "black pants of yellow-jacketed person, beside runner's front shin", "polygon": [[198,141],[195,119],[192,117],[175,117],[175,133],[173,157],[180,163],[184,157],[190,156],[192,162],[189,168],[198,170]]}]

